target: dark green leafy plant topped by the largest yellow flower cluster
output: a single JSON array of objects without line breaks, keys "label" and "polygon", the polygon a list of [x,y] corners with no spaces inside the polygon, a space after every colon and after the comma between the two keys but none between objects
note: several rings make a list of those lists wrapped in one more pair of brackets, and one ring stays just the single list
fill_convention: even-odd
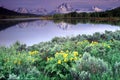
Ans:
[{"label": "dark green leafy plant topped by the largest yellow flower cluster", "polygon": [[70,68],[79,58],[78,52],[56,52],[54,57],[47,57],[46,73],[57,79],[67,79],[70,76]]}]

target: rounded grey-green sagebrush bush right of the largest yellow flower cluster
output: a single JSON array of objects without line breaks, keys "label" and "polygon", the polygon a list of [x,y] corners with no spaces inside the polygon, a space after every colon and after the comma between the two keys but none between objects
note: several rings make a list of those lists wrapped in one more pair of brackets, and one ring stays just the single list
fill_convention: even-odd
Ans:
[{"label": "rounded grey-green sagebrush bush right of the largest yellow flower cluster", "polygon": [[88,71],[93,74],[102,74],[108,71],[108,64],[103,60],[91,57],[89,53],[84,53],[80,61],[77,62],[80,71]]}]

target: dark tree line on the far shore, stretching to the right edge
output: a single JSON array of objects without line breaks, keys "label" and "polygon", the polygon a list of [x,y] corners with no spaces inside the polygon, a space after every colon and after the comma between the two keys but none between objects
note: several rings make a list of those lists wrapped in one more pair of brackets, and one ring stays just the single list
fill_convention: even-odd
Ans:
[{"label": "dark tree line on the far shore, stretching to the right edge", "polygon": [[83,13],[77,13],[77,12],[72,12],[68,14],[55,14],[53,15],[54,19],[60,19],[60,18],[90,18],[90,17],[118,17],[120,18],[120,7],[112,9],[112,10],[107,10],[104,12],[83,12]]}]

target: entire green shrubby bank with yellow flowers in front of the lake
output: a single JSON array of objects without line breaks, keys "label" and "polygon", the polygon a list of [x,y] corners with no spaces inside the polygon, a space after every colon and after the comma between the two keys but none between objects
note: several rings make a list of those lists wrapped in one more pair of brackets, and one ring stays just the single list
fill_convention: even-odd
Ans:
[{"label": "entire green shrubby bank with yellow flowers in front of the lake", "polygon": [[120,31],[0,48],[0,79],[119,80]]}]

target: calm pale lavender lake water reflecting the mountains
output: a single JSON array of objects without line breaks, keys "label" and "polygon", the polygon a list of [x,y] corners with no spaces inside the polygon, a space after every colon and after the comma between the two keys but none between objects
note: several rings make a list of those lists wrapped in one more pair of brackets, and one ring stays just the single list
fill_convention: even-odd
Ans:
[{"label": "calm pale lavender lake water reflecting the mountains", "polygon": [[0,46],[9,46],[16,41],[30,46],[39,42],[49,41],[54,37],[93,34],[95,32],[104,33],[105,30],[120,30],[120,26],[92,23],[73,25],[65,22],[54,23],[47,20],[20,22],[0,30]]}]

